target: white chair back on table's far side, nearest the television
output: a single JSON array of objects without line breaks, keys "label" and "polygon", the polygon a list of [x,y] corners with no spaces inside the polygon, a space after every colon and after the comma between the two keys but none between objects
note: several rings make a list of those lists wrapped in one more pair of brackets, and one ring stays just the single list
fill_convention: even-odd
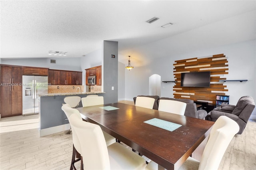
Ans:
[{"label": "white chair back on table's far side, nearest the television", "polygon": [[158,111],[164,111],[169,113],[175,113],[178,115],[184,115],[186,110],[186,103],[174,100],[159,100]]}]

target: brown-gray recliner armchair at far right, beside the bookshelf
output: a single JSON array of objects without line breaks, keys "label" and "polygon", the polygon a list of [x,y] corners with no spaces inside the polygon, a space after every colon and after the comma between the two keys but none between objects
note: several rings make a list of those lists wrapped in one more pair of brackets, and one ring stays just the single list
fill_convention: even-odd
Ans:
[{"label": "brown-gray recliner armchair at far right, beside the bookshelf", "polygon": [[213,109],[206,116],[206,120],[215,122],[220,116],[227,116],[238,123],[240,130],[237,134],[242,134],[254,107],[253,98],[251,96],[243,96],[238,100],[236,106],[222,104],[220,108]]}]

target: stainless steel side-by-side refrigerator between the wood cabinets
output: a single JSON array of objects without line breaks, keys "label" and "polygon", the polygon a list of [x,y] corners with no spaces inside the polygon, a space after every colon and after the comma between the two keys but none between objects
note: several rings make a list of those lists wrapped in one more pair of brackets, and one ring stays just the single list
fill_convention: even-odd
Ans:
[{"label": "stainless steel side-by-side refrigerator between the wood cabinets", "polygon": [[41,93],[48,93],[48,76],[22,75],[22,116],[39,112]]}]

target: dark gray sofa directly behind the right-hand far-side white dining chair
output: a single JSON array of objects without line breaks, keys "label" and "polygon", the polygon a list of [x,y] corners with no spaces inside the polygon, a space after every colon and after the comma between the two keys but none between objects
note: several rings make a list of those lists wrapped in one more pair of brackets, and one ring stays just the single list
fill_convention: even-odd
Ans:
[{"label": "dark gray sofa directly behind the right-hand far-side white dining chair", "polygon": [[168,97],[161,97],[158,100],[158,103],[161,99],[175,100],[175,101],[181,101],[181,102],[186,103],[187,105],[186,105],[186,110],[185,110],[184,116],[194,117],[194,118],[198,118],[198,119],[204,119],[207,115],[207,112],[205,110],[197,110],[196,103],[194,103],[190,99],[174,99],[174,98],[168,98]]}]

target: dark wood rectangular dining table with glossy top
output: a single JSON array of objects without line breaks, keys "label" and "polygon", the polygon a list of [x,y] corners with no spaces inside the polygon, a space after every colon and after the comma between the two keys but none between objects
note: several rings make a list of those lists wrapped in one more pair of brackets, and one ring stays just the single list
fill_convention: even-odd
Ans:
[{"label": "dark wood rectangular dining table with glossy top", "polygon": [[[118,109],[105,110],[111,106]],[[124,142],[158,164],[158,169],[178,169],[209,135],[214,122],[147,109],[124,103],[76,108],[82,118]],[[157,118],[182,125],[169,131],[144,123]]]}]

